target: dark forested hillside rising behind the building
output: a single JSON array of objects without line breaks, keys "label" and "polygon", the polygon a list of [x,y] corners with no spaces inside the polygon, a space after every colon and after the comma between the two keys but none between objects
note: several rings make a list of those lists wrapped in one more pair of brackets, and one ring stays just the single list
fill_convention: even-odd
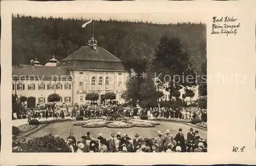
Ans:
[{"label": "dark forested hillside rising behind the building", "polygon": [[[52,55],[63,58],[87,45],[92,36],[92,23],[82,29],[82,19],[12,17],[12,63],[29,64],[37,57],[41,64]],[[151,22],[95,20],[94,36],[98,46],[126,61],[143,58],[150,61],[162,35],[178,37],[197,72],[206,60],[206,25],[178,23],[158,25]],[[130,63],[124,63],[130,68]]]}]

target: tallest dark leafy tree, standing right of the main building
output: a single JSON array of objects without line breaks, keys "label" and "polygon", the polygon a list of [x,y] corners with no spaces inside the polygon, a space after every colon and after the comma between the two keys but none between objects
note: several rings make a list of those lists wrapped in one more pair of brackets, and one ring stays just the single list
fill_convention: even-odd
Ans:
[{"label": "tallest dark leafy tree, standing right of the main building", "polygon": [[174,91],[196,85],[196,72],[179,38],[162,36],[155,48],[153,64],[155,72],[161,74],[156,75],[158,79],[169,85],[165,90],[169,91],[170,99]]}]

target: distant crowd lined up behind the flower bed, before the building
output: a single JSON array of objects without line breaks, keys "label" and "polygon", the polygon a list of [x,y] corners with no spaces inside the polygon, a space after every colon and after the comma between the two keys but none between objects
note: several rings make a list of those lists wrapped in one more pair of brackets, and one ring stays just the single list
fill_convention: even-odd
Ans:
[{"label": "distant crowd lined up behind the flower bed, before the building", "polygon": [[[141,115],[150,115],[152,117],[165,117],[165,118],[180,118],[184,120],[190,120],[192,118],[201,118],[203,122],[207,122],[207,110],[198,108],[178,108],[172,109],[167,107],[162,108],[140,108],[140,107],[125,107],[121,104],[88,104],[77,105],[73,107],[69,106],[57,106],[56,104],[46,104],[41,106],[40,109],[26,109],[26,115],[24,118],[64,118],[65,116],[71,116],[75,118],[78,115],[86,118],[97,118],[102,116],[108,116],[113,114],[114,118],[120,115],[126,117],[134,117]],[[17,119],[16,112],[13,113],[13,119]],[[29,121],[28,120],[28,121]]]}]

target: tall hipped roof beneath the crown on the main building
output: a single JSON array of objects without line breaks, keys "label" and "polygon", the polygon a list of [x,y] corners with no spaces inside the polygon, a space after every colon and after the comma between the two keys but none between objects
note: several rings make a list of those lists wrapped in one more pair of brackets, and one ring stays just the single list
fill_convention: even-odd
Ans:
[{"label": "tall hipped roof beneath the crown on the main building", "polygon": [[67,69],[103,69],[124,70],[120,59],[103,48],[92,51],[89,46],[81,46],[74,53],[63,59],[61,66]]}]

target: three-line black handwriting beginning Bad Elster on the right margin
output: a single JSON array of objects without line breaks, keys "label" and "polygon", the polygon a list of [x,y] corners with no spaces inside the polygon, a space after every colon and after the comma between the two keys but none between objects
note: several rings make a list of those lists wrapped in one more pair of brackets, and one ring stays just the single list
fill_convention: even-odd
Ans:
[{"label": "three-line black handwriting beginning Bad Elster on the right margin", "polygon": [[236,35],[238,33],[238,29],[241,26],[240,22],[237,22],[238,18],[234,17],[212,17],[212,25],[211,25],[211,35],[217,34],[225,34],[228,36],[229,34]]}]

